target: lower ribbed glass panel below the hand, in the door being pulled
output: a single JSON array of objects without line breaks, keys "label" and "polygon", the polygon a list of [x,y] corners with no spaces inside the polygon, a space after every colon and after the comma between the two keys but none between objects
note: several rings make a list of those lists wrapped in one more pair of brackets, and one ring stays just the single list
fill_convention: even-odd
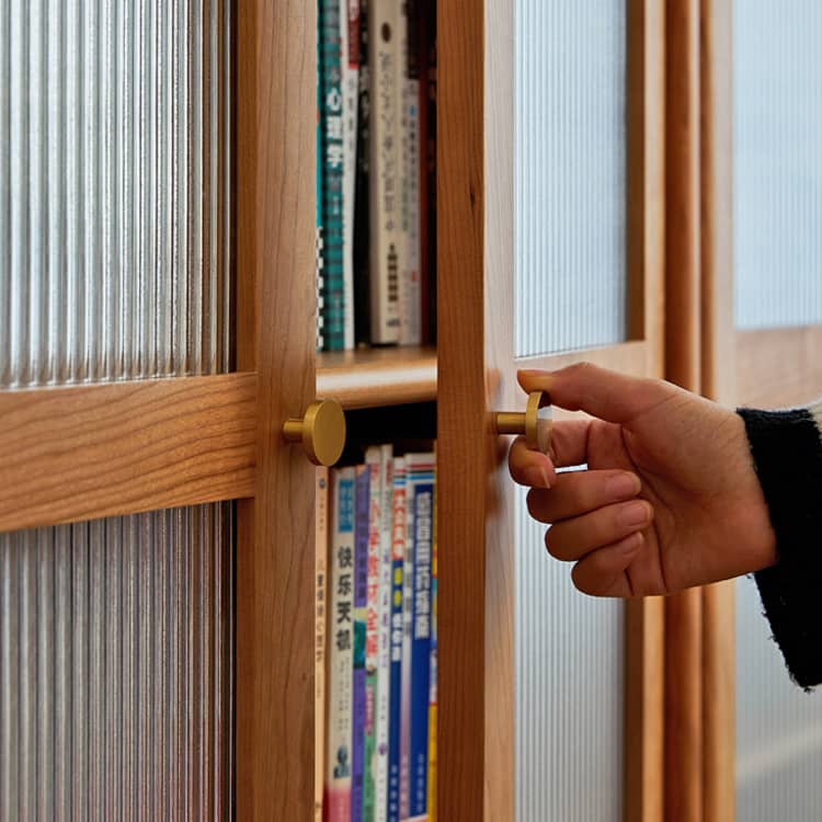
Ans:
[{"label": "lower ribbed glass panel below the hand, in the door being pulled", "polygon": [[618,822],[624,804],[620,601],[585,596],[517,490],[516,820]]}]

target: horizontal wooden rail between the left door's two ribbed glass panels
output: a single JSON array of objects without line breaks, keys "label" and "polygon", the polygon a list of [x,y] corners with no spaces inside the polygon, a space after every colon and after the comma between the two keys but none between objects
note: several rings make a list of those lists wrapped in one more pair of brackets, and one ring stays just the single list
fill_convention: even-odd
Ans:
[{"label": "horizontal wooden rail between the left door's two ribbed glass panels", "polygon": [[253,374],[0,392],[0,530],[254,490]]}]

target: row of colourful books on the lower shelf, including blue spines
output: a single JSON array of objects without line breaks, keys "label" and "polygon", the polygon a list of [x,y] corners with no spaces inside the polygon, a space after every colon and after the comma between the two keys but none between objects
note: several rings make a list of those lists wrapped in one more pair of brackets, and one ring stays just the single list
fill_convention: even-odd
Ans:
[{"label": "row of colourful books on the lower shelf, including blue spines", "polygon": [[434,822],[434,454],[372,446],[317,495],[317,822]]}]

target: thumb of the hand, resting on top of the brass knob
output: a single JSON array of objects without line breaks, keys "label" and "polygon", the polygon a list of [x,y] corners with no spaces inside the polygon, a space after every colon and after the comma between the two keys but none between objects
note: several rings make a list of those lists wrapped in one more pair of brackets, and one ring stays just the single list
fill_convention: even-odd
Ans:
[{"label": "thumb of the hand, resting on top of the brass knob", "polygon": [[517,372],[526,391],[547,391],[551,403],[568,411],[627,423],[669,399],[676,388],[669,383],[576,363],[557,372]]}]

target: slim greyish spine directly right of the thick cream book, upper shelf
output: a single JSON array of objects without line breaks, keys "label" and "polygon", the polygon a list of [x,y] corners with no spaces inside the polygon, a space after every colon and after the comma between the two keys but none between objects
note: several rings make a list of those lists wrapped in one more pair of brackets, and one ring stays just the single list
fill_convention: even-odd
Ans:
[{"label": "slim greyish spine directly right of the thick cream book, upper shelf", "polygon": [[402,318],[400,342],[419,345],[422,342],[422,297],[420,283],[420,49],[415,0],[404,0],[402,8],[402,60],[400,89],[403,129],[402,227],[404,266],[401,288]]}]

